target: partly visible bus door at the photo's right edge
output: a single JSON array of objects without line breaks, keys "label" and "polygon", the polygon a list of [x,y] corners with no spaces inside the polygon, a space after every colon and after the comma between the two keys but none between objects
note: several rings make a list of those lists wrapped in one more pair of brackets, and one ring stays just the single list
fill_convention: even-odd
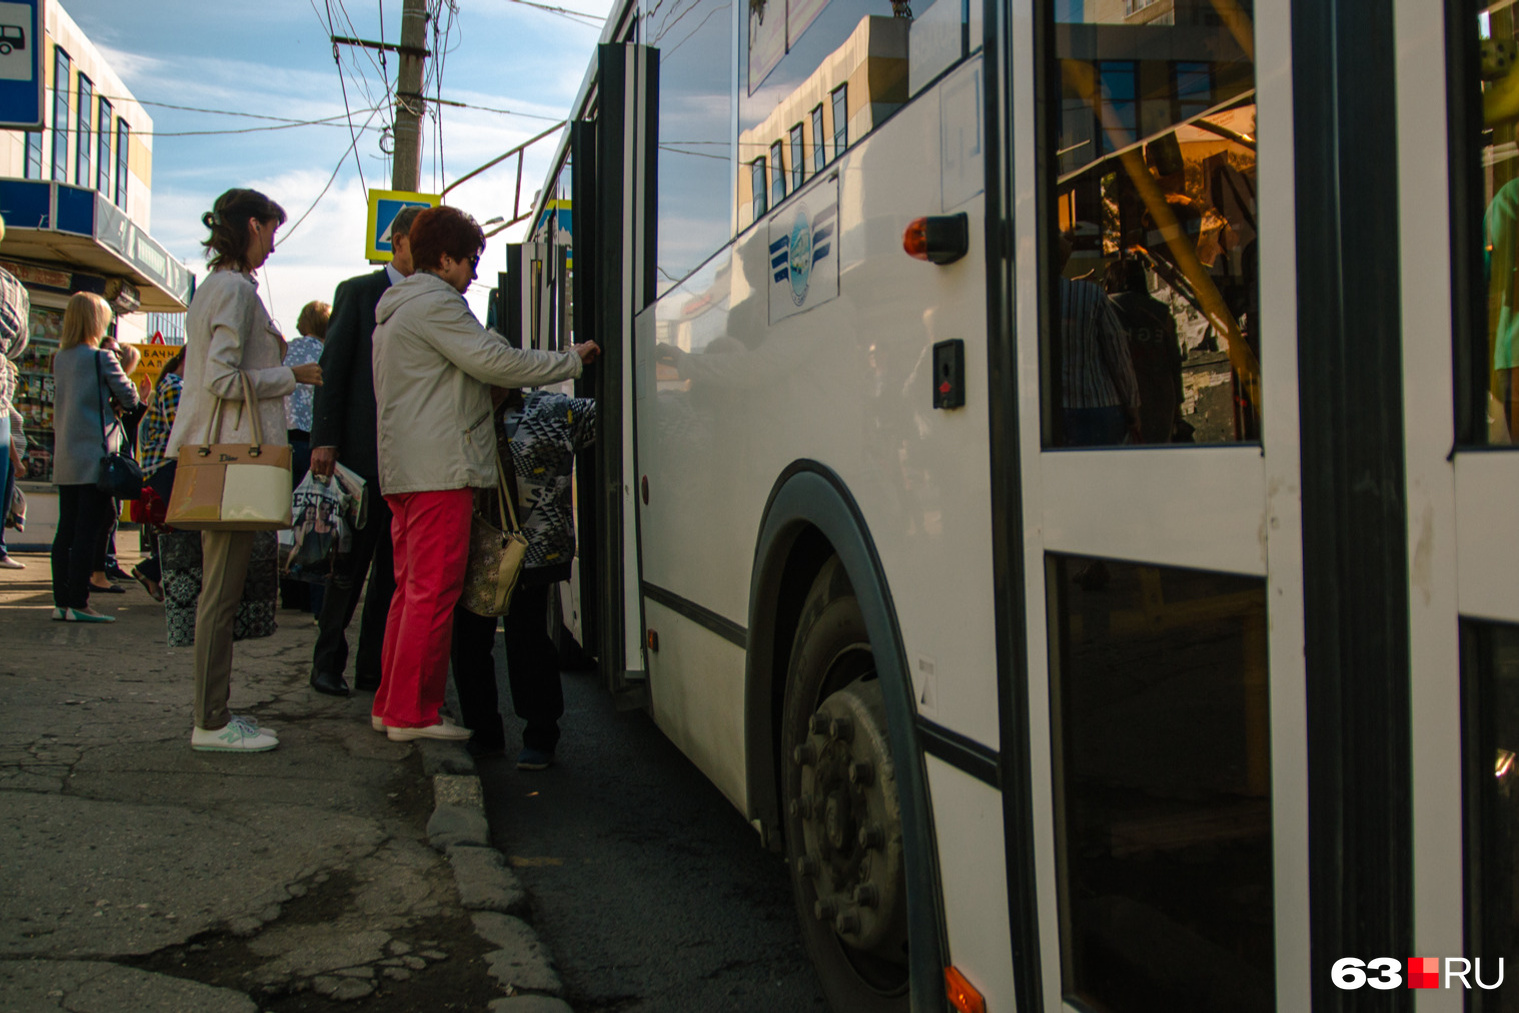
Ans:
[{"label": "partly visible bus door at the photo's right edge", "polygon": [[[1397,6],[1387,52],[1397,56],[1388,126],[1414,673],[1408,952],[1437,974],[1422,1010],[1510,1010],[1519,1007],[1519,9]],[[1472,974],[1452,977],[1463,969]]]}]

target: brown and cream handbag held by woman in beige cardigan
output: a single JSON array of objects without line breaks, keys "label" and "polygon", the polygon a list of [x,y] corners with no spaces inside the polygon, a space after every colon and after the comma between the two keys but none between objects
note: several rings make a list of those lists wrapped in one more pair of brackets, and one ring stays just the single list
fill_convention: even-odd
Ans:
[{"label": "brown and cream handbag held by woman in beige cardigan", "polygon": [[172,527],[211,532],[273,532],[290,527],[290,448],[264,447],[258,399],[248,374],[243,407],[252,412],[252,443],[217,443],[222,409],[217,396],[207,419],[205,440],[181,447],[175,488],[169,495]]}]

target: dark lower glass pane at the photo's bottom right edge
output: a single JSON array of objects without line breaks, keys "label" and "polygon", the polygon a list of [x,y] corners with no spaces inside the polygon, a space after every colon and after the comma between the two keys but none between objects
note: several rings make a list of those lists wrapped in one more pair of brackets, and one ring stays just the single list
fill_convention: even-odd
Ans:
[{"label": "dark lower glass pane at the photo's bottom right edge", "polygon": [[1466,708],[1467,797],[1475,813],[1467,834],[1467,898],[1475,913],[1467,952],[1483,958],[1483,978],[1502,987],[1484,993],[1483,1010],[1519,1008],[1519,627],[1463,623],[1461,662],[1476,693]]}]

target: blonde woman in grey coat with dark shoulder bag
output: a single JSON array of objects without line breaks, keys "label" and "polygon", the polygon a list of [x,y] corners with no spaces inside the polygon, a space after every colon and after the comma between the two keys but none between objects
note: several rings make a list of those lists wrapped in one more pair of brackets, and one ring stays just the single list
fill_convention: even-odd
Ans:
[{"label": "blonde woman in grey coat with dark shoulder bag", "polygon": [[[64,334],[53,355],[53,483],[58,486],[58,535],[53,538],[53,618],[65,623],[114,623],[90,607],[90,573],[100,532],[111,516],[111,495],[96,489],[100,459],[126,443],[109,404],[135,409],[137,387],[123,363],[100,351],[111,327],[111,307],[97,295],[76,293],[64,310]],[[123,368],[125,366],[125,368]]]}]

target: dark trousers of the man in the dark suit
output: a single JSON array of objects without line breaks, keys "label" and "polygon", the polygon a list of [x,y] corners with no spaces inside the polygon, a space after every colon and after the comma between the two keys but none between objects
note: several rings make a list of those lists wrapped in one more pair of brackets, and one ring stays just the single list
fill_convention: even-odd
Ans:
[{"label": "dark trousers of the man in the dark suit", "polygon": [[365,477],[369,497],[369,519],[354,532],[352,551],[339,556],[333,576],[327,579],[327,595],[317,615],[316,650],[311,667],[317,671],[343,674],[348,667],[348,624],[358,607],[358,588],[369,574],[365,592],[365,618],[358,629],[358,655],[354,658],[354,680],[374,688],[380,683],[380,652],[384,649],[384,623],[395,597],[395,551],[390,545],[390,507],[380,495],[380,483]]}]

